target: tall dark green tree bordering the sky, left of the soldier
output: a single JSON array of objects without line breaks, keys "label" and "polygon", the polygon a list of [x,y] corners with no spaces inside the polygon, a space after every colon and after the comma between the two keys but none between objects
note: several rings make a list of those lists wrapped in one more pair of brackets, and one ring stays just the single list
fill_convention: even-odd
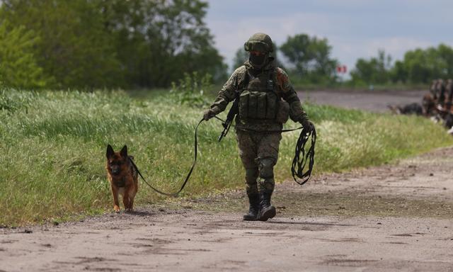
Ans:
[{"label": "tall dark green tree bordering the sky, left of the soldier", "polygon": [[226,66],[203,21],[205,2],[112,0],[103,5],[130,84],[168,86],[194,71],[224,79]]}]

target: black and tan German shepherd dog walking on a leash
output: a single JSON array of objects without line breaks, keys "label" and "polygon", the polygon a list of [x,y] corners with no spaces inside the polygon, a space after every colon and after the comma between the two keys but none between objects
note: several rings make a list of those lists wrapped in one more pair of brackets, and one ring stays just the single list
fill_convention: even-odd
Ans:
[{"label": "black and tan German shepherd dog walking on a leash", "polygon": [[107,169],[110,188],[112,188],[113,209],[115,212],[120,211],[120,203],[118,202],[118,193],[120,193],[125,210],[132,211],[139,183],[137,170],[131,162],[132,157],[127,155],[127,146],[122,147],[120,152],[115,152],[108,145],[105,155],[107,157],[105,169]]}]

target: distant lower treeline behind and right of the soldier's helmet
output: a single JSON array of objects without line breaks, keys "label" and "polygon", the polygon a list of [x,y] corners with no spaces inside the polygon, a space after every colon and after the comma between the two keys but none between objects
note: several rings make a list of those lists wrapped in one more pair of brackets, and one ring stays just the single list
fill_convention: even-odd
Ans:
[{"label": "distant lower treeline behind and right of the soldier's helmet", "polygon": [[[336,67],[339,62],[331,57],[331,51],[332,46],[326,38],[297,34],[275,46],[277,53],[274,55],[285,58],[284,61],[277,59],[277,62],[287,69],[296,84],[338,84]],[[241,66],[247,58],[247,53],[240,47],[234,57],[234,66]],[[395,62],[384,50],[379,50],[377,57],[357,60],[350,75],[351,78],[343,83],[351,86],[430,84],[432,79],[453,78],[453,49],[441,44],[425,50],[410,50],[403,60]]]}]

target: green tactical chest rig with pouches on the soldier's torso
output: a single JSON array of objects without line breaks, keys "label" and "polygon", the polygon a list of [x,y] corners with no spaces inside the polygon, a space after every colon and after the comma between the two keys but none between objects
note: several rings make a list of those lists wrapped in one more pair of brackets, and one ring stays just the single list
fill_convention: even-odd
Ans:
[{"label": "green tactical chest rig with pouches on the soldier's torso", "polygon": [[[246,72],[246,77],[251,75]],[[239,96],[239,118],[285,123],[289,116],[289,105],[281,100],[276,88],[273,70],[249,79]]]}]

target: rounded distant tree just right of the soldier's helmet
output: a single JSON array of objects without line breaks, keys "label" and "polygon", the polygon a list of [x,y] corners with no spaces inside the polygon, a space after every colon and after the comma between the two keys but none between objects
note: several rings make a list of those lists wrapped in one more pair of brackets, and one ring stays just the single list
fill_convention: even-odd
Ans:
[{"label": "rounded distant tree just right of the soldier's helmet", "polygon": [[331,58],[331,45],[326,38],[309,37],[306,34],[289,36],[280,51],[294,67],[294,72],[308,77],[314,83],[336,78],[337,61]]}]

